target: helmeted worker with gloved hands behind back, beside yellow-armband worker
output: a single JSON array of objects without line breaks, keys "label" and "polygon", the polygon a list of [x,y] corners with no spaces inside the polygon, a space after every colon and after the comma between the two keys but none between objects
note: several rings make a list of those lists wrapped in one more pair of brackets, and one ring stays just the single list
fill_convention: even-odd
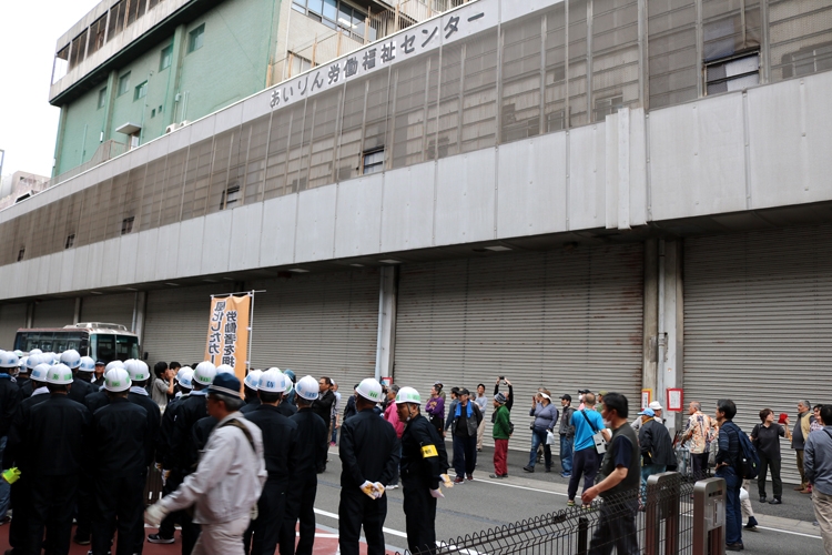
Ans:
[{"label": "helmeted worker with gloved hands behind back, beside yellow-armband worker", "polygon": [[338,504],[338,545],[342,555],[358,555],[362,525],[367,555],[384,555],[384,519],[389,484],[398,466],[398,441],[393,425],[379,418],[375,406],[384,397],[382,385],[367,377],[356,389],[358,414],[341,428],[342,462]]}]

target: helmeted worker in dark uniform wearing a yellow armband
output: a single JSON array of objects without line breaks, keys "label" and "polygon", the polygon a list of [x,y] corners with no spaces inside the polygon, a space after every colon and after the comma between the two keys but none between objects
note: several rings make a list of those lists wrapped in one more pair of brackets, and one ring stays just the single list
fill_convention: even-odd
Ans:
[{"label": "helmeted worker in dark uniform wearing a yellow armband", "polygon": [[[444,497],[439,482],[450,481],[448,454],[436,427],[420,413],[422,397],[413,387],[396,394],[402,434],[402,488],[405,495],[407,547],[433,553],[436,549],[436,500]],[[443,477],[443,474],[445,475]]]}]

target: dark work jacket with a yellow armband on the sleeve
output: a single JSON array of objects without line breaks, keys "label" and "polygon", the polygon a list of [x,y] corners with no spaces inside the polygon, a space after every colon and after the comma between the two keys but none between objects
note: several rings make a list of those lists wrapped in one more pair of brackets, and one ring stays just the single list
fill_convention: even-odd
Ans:
[{"label": "dark work jacket with a yellow armband on the sleeve", "polygon": [[405,425],[400,470],[402,482],[413,482],[430,490],[439,487],[439,475],[448,472],[445,442],[422,414]]}]

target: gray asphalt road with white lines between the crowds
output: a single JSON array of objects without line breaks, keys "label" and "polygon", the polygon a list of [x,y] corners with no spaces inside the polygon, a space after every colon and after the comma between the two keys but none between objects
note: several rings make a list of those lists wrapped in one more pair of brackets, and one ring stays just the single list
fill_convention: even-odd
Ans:
[{"label": "gray asphalt road with white lines between the crowds", "polygon": [[[478,468],[481,471],[475,472],[475,480],[446,490],[446,497],[439,500],[436,518],[438,539],[453,539],[565,508],[567,480],[557,472],[544,473],[542,465],[534,474],[525,473],[521,468],[527,463],[528,454],[509,452],[509,477],[500,481],[488,478],[493,472],[491,451],[485,448],[479,457]],[[559,470],[557,460],[555,470]],[[315,501],[317,522],[325,527],[338,526],[339,476],[337,447],[331,447],[327,471],[318,475]],[[811,500],[808,495],[793,492],[790,486],[784,486],[784,490],[783,505],[763,505],[754,501],[761,526],[757,532],[743,531],[745,553],[823,555],[820,533],[811,524],[814,519]],[[752,500],[755,500],[754,484],[751,491]],[[407,546],[402,504],[402,490],[389,491],[385,541],[392,551],[403,551]]]}]

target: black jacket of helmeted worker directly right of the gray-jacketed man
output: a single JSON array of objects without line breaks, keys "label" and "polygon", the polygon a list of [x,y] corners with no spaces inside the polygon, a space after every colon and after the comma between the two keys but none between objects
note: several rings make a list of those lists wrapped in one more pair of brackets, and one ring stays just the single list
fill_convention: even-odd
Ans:
[{"label": "black jacket of helmeted worker directly right of the gray-jacketed man", "polygon": [[290,477],[298,466],[297,423],[288,420],[276,406],[261,404],[245,417],[263,432],[263,455],[268,481],[285,492]]}]

